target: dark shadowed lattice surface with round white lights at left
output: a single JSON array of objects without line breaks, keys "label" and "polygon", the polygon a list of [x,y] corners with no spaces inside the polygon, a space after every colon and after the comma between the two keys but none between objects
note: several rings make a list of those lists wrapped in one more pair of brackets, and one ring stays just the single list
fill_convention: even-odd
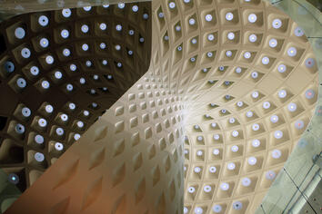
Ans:
[{"label": "dark shadowed lattice surface with round white lights at left", "polygon": [[20,190],[146,73],[150,13],[149,3],[97,6],[0,25],[0,168],[19,177]]}]

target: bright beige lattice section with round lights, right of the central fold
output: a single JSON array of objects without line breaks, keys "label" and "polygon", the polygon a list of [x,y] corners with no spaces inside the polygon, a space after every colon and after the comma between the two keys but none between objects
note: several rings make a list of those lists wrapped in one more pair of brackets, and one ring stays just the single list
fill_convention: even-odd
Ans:
[{"label": "bright beige lattice section with round lights, right of the central fold", "polygon": [[296,23],[260,1],[172,2],[156,7],[156,23],[161,54],[180,44],[170,70],[191,112],[184,213],[253,213],[312,115],[314,54]]}]

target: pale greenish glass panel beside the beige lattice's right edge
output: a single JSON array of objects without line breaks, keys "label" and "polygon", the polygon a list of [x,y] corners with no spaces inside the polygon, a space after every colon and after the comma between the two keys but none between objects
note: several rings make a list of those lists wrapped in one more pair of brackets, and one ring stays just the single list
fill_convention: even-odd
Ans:
[{"label": "pale greenish glass panel beside the beige lattice's right edge", "polygon": [[[322,80],[322,15],[316,7],[300,0],[269,0],[289,15],[305,31],[317,57],[319,80]],[[321,84],[320,84],[321,85]],[[297,143],[284,168],[257,209],[260,213],[297,213],[306,208],[318,212],[310,195],[321,180],[322,92],[319,87],[317,109],[307,131]],[[314,158],[315,157],[315,158]],[[317,199],[318,200],[318,199]],[[315,210],[315,211],[314,211]]]}]

